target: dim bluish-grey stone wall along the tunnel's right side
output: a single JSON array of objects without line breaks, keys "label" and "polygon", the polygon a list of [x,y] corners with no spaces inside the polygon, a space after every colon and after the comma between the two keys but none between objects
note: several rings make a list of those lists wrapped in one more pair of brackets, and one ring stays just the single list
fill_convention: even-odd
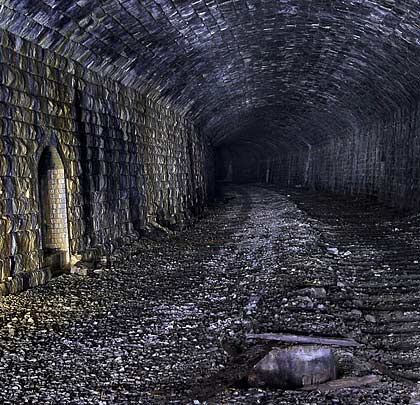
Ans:
[{"label": "dim bluish-grey stone wall along the tunnel's right side", "polygon": [[282,163],[274,182],[373,196],[401,209],[418,209],[419,156],[420,104],[416,102],[310,152],[279,156]]}]

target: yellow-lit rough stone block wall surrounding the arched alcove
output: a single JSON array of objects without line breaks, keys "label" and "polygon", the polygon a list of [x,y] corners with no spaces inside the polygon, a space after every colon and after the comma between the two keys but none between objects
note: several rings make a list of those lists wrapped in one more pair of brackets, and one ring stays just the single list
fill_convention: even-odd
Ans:
[{"label": "yellow-lit rough stone block wall surrounding the arched alcove", "polygon": [[0,83],[3,290],[50,277],[39,270],[37,178],[48,146],[64,164],[72,255],[99,254],[203,206],[210,148],[173,109],[4,31]]}]

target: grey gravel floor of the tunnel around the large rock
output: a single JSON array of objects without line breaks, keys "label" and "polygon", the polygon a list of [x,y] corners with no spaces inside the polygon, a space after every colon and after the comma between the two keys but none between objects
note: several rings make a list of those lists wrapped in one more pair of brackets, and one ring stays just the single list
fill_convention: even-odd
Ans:
[{"label": "grey gravel floor of the tunnel around the large rock", "polygon": [[[416,403],[419,220],[361,204],[231,187],[191,229],[121,249],[111,270],[2,298],[0,403]],[[244,334],[280,331],[352,336],[362,348],[337,355],[358,367],[343,369],[382,382],[229,387]]]}]

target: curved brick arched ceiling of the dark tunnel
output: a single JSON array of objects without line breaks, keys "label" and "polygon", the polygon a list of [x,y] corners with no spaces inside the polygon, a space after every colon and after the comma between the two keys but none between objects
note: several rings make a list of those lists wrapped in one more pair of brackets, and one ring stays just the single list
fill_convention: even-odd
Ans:
[{"label": "curved brick arched ceiling of the dark tunnel", "polygon": [[419,94],[418,0],[0,0],[0,27],[171,103],[215,144],[316,143]]}]

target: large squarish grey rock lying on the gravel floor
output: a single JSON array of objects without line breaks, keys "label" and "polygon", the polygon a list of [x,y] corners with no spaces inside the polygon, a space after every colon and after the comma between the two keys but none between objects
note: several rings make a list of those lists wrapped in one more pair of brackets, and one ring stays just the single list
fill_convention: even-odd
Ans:
[{"label": "large squarish grey rock lying on the gravel floor", "polygon": [[336,378],[332,351],[319,346],[274,349],[260,360],[248,376],[251,386],[294,389]]}]

